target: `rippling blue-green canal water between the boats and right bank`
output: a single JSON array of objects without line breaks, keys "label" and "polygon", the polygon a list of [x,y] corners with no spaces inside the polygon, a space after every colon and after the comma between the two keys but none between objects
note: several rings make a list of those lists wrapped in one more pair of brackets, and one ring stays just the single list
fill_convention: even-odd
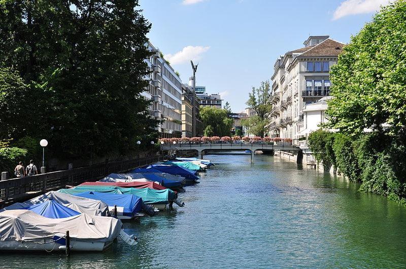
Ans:
[{"label": "rippling blue-green canal water between the boats and right bank", "polygon": [[208,155],[186,206],[141,223],[103,253],[0,254],[1,267],[406,267],[406,208],[279,157]]}]

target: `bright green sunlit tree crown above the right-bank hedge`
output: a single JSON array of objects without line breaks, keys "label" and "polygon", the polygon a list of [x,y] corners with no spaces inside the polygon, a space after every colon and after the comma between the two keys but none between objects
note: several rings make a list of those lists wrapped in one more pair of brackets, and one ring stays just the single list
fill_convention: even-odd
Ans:
[{"label": "bright green sunlit tree crown above the right-bank hedge", "polygon": [[351,136],[364,128],[396,134],[406,126],[406,1],[382,8],[331,67],[329,126]]}]

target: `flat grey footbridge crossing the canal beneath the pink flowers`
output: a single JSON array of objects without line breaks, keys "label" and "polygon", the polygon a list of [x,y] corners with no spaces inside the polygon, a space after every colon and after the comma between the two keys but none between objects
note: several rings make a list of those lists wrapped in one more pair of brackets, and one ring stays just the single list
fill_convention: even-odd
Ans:
[{"label": "flat grey footbridge crossing the canal beneath the pink flowers", "polygon": [[[216,151],[235,151],[235,150],[250,150],[251,158],[252,152],[256,150],[261,150],[262,152],[274,152],[275,150],[282,151],[295,151],[298,152],[298,159],[302,158],[302,150],[299,146],[285,144],[281,142],[280,144],[266,144],[266,143],[163,143],[161,144],[161,150],[196,150],[200,159],[203,159],[205,152],[209,150]],[[300,156],[300,157],[299,157]],[[299,160],[297,160],[299,161]],[[301,160],[300,160],[301,162]]]}]

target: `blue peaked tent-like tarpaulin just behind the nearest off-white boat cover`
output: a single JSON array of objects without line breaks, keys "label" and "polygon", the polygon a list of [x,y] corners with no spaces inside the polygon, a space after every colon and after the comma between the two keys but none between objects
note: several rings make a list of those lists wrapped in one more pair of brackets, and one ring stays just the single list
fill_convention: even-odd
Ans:
[{"label": "blue peaked tent-like tarpaulin just behind the nearest off-white boat cover", "polygon": [[68,218],[79,215],[78,211],[62,206],[52,200],[25,208],[47,218]]}]

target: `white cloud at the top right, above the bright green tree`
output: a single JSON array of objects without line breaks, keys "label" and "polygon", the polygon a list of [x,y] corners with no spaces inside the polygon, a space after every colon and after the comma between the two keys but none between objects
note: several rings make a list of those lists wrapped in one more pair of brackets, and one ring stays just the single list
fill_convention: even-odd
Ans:
[{"label": "white cloud at the top right, above the bright green tree", "polygon": [[388,4],[389,0],[346,0],[334,11],[333,20],[378,11],[381,6]]}]

